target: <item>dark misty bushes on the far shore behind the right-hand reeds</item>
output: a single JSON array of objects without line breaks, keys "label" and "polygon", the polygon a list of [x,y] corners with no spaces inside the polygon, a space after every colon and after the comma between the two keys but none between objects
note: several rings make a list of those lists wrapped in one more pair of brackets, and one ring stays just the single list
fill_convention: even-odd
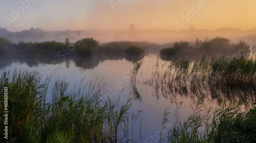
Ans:
[{"label": "dark misty bushes on the far shore behind the right-hand reeds", "polygon": [[197,38],[194,44],[187,41],[175,42],[172,47],[164,48],[160,51],[161,59],[171,60],[175,56],[178,58],[193,59],[202,55],[209,56],[248,56],[250,53],[249,45],[240,41],[239,43],[231,43],[227,38],[216,37],[208,40],[201,41]]}]

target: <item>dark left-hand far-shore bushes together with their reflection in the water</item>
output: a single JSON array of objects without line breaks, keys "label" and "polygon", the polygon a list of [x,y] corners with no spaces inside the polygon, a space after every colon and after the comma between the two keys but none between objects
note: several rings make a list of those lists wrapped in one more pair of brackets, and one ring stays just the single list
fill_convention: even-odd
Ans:
[{"label": "dark left-hand far-shore bushes together with their reflection in the water", "polygon": [[[136,43],[136,42],[134,42]],[[81,69],[93,69],[105,60],[122,60],[136,62],[144,57],[144,49],[137,46],[123,47],[122,42],[116,46],[100,43],[93,38],[84,38],[71,43],[65,42],[23,42],[17,44],[0,37],[0,68],[13,62],[38,66],[38,64],[63,64],[71,62]]]}]

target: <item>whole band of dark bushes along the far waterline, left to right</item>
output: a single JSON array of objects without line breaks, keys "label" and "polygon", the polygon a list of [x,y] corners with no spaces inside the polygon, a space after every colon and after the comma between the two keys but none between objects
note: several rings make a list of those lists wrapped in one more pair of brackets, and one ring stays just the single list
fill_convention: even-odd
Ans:
[{"label": "whole band of dark bushes along the far waterline, left to right", "polygon": [[[161,50],[161,51],[160,51]],[[179,41],[175,43],[156,44],[146,41],[114,41],[100,44],[93,38],[84,38],[74,43],[67,38],[65,42],[23,42],[13,43],[5,38],[0,38],[0,58],[91,58],[99,56],[104,60],[117,60],[125,58],[128,61],[136,62],[143,59],[145,54],[159,54],[162,60],[170,60],[175,56],[195,60],[202,55],[208,56],[248,56],[249,45],[240,41],[231,43],[227,38],[216,37],[196,39],[195,43]]]}]

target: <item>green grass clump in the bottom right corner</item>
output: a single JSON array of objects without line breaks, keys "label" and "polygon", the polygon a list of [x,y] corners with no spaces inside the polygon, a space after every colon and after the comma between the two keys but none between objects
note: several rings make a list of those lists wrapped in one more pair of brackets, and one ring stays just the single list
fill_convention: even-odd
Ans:
[{"label": "green grass clump in the bottom right corner", "polygon": [[[256,140],[256,107],[245,111],[241,100],[212,111],[204,110],[200,100],[184,123],[168,130],[167,142],[254,142]],[[254,103],[255,104],[255,103]]]}]

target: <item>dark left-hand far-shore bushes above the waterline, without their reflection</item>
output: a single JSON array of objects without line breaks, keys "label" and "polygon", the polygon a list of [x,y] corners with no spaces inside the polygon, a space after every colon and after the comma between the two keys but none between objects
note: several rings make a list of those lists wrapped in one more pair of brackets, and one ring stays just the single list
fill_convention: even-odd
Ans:
[{"label": "dark left-hand far-shore bushes above the waterline, without their reflection", "polygon": [[[84,38],[71,43],[69,39],[65,42],[56,41],[46,41],[46,42],[23,42],[20,41],[17,44],[11,41],[0,38],[0,57],[18,57],[18,58],[90,58],[91,56],[100,56],[101,59],[106,59],[107,57],[112,60],[113,56],[117,59],[133,56],[134,59],[129,58],[126,60],[137,61],[141,60],[144,55],[144,49],[130,45],[128,47],[119,45],[112,46],[110,43],[105,43],[100,45],[100,43],[93,38]],[[136,48],[134,48],[136,47]],[[126,50],[129,49],[130,50]],[[145,47],[144,47],[145,48]],[[125,51],[126,50],[126,51]],[[124,54],[125,51],[125,54]],[[139,51],[139,52],[138,52]],[[124,57],[125,55],[125,57]],[[115,58],[114,58],[115,59]],[[136,60],[137,59],[137,60]],[[106,59],[108,60],[108,59]]]}]

